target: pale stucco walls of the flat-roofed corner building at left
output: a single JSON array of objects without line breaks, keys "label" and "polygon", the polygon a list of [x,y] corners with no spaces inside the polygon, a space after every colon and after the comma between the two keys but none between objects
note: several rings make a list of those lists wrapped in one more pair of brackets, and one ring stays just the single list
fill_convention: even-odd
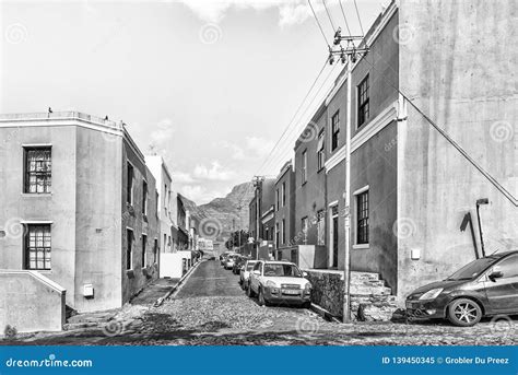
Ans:
[{"label": "pale stucco walls of the flat-roofed corner building at left", "polygon": [[[51,245],[46,269],[37,272],[66,289],[67,305],[79,312],[119,307],[157,277],[155,181],[121,125],[80,113],[4,115],[0,139],[1,269],[33,267],[27,231],[44,225]],[[51,150],[51,187],[30,194],[24,189],[24,154],[39,148]],[[126,197],[128,163],[134,169],[131,207]],[[125,262],[128,228],[136,238],[132,272]],[[142,235],[148,239],[145,258]],[[85,295],[85,286],[93,289],[92,295]]]}]

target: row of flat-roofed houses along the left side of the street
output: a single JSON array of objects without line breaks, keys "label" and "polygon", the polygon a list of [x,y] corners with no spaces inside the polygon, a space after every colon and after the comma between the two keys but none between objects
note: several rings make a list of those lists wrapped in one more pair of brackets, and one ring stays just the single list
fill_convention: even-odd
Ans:
[{"label": "row of flat-roofed houses along the left side of the street", "polygon": [[68,308],[93,312],[181,277],[198,233],[172,183],[122,122],[78,112],[0,116],[0,323],[40,323],[42,283],[62,291]]}]

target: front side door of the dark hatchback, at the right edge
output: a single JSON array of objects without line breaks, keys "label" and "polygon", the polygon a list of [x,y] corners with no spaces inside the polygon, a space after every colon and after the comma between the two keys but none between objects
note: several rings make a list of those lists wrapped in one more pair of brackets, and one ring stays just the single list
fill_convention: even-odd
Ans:
[{"label": "front side door of the dark hatchback, at the right edge", "polygon": [[513,255],[496,263],[487,276],[502,272],[502,278],[485,282],[490,305],[495,313],[518,314],[518,255]]}]

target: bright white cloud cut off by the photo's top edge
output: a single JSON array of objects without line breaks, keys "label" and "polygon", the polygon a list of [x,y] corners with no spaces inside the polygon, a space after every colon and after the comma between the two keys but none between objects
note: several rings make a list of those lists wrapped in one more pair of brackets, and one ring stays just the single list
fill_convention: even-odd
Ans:
[{"label": "bright white cloud cut off by the photo's top edge", "polygon": [[[276,9],[280,26],[299,24],[311,16],[311,10],[305,0],[180,0],[180,2],[200,20],[211,23],[221,22],[231,9],[256,11]],[[322,5],[316,2],[314,8],[319,12]]]}]

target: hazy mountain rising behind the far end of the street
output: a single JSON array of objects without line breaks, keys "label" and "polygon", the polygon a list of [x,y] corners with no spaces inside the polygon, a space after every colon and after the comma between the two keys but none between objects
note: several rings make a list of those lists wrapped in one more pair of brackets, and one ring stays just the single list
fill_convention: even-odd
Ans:
[{"label": "hazy mountain rising behind the far end of the street", "polygon": [[205,204],[197,206],[184,196],[183,201],[197,222],[198,234],[224,243],[232,232],[248,227],[251,198],[252,183],[243,183],[234,186],[226,197],[215,198]]}]

